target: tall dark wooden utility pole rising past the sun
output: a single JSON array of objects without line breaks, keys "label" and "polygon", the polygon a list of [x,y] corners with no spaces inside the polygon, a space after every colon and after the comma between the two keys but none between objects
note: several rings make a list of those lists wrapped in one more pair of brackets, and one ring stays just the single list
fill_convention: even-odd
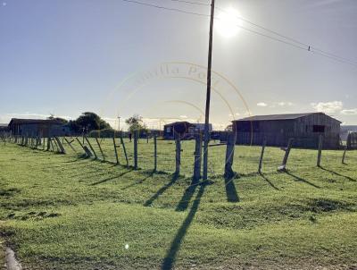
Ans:
[{"label": "tall dark wooden utility pole rising past the sun", "polygon": [[210,104],[211,104],[211,70],[212,70],[212,41],[213,41],[213,19],[214,19],[214,0],[211,4],[210,21],[210,41],[208,46],[208,66],[207,66],[207,93],[206,111],[204,119],[204,146],[203,146],[203,181],[208,177],[208,143],[210,142]]}]

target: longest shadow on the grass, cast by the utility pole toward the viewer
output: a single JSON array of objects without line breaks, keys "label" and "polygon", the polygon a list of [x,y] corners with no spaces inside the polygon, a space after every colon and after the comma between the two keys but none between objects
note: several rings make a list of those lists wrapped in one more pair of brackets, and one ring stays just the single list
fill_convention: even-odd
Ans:
[{"label": "longest shadow on the grass, cast by the utility pole toward the viewer", "polygon": [[206,187],[206,185],[204,185],[204,184],[200,186],[200,189],[198,190],[198,193],[195,197],[195,201],[194,201],[190,211],[188,212],[187,217],[185,218],[184,222],[179,227],[179,231],[176,233],[175,238],[172,240],[170,249],[168,250],[165,258],[163,259],[162,270],[172,269],[172,266],[176,260],[176,255],[179,251],[179,247],[181,246],[181,242],[185,238],[187,230],[194,220],[195,213],[197,212],[198,207],[200,205],[201,198],[203,196],[205,187]]}]

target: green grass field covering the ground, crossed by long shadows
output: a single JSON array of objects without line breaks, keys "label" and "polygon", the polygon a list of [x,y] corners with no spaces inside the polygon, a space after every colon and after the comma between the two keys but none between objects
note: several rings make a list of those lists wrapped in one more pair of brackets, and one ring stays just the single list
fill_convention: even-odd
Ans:
[{"label": "green grass field covering the ground, crossed by long shadows", "polygon": [[65,148],[0,146],[0,231],[25,269],[357,267],[357,151],[346,165],[341,151],[323,151],[318,168],[316,150],[293,149],[277,173],[284,153],[267,148],[259,175],[260,148],[238,146],[238,176],[226,181],[225,147],[212,147],[212,183],[191,185],[193,141],[179,177],[171,141],[159,141],[158,173],[145,140],[138,171],[112,164],[111,139],[105,163]]}]

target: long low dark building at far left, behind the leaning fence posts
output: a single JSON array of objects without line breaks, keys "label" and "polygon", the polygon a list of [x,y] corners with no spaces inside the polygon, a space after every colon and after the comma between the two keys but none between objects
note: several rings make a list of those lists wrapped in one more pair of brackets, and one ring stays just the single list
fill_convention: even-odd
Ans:
[{"label": "long low dark building at far left, behind the leaning fence posts", "polygon": [[8,125],[12,136],[54,137],[69,135],[70,129],[62,121],[51,119],[12,118]]}]

